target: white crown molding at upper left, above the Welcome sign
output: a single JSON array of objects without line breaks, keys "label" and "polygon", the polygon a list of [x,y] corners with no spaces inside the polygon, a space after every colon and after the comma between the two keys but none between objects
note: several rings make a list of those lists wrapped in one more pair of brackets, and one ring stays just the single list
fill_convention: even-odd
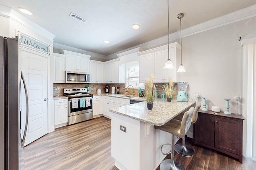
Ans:
[{"label": "white crown molding at upper left, above the Welcome sign", "polygon": [[10,20],[13,20],[20,25],[27,27],[29,29],[32,29],[36,33],[42,35],[43,37],[49,39],[50,41],[53,41],[55,35],[50,33],[48,30],[44,29],[40,25],[34,23],[30,19],[26,18],[22,14],[18,13],[17,11],[13,10],[12,8],[0,5],[0,16],[4,16],[6,18],[9,18]]}]

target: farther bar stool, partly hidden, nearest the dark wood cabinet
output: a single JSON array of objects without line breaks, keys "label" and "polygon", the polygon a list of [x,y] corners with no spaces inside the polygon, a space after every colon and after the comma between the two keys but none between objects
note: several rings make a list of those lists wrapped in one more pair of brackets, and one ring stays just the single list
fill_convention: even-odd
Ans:
[{"label": "farther bar stool, partly hidden, nearest the dark wood cabinet", "polygon": [[[198,118],[198,111],[201,107],[201,103],[198,102],[198,104],[196,105],[192,118],[191,118],[191,123],[194,124],[197,121]],[[174,119],[178,119],[178,120],[182,120],[182,113],[179,114],[178,116],[174,117]],[[181,143],[177,143],[176,145],[174,145],[174,150],[175,152],[177,152],[178,154],[180,154],[181,156],[185,156],[185,157],[190,157],[193,156],[195,154],[194,150],[186,145],[185,143],[185,136],[182,138],[182,144]]]}]

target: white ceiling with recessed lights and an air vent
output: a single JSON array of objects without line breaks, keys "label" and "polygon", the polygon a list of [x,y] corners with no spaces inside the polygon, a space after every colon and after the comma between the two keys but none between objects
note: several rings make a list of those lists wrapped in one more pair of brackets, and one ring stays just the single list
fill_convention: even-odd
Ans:
[{"label": "white ceiling with recessed lights and an air vent", "polygon": [[[1,4],[30,10],[34,15],[23,15],[56,35],[55,43],[102,55],[168,34],[167,0],[4,0]],[[254,4],[255,0],[169,0],[170,33],[180,30],[179,13],[185,14],[184,29]],[[87,22],[71,18],[70,12]],[[133,29],[133,23],[140,28]]]}]

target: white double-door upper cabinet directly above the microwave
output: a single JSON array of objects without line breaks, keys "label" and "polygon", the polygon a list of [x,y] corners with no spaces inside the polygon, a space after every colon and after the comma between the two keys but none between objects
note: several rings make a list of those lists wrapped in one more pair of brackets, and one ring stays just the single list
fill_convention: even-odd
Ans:
[{"label": "white double-door upper cabinet directly above the microwave", "polygon": [[62,50],[65,55],[66,71],[90,72],[90,55]]}]

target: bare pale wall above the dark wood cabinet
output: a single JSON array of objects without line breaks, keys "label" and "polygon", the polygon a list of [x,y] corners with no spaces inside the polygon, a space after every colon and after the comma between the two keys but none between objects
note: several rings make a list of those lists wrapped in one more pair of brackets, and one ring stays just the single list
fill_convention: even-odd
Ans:
[{"label": "bare pale wall above the dark wood cabinet", "polygon": [[255,37],[255,28],[256,17],[182,38],[182,64],[187,72],[180,73],[180,80],[188,81],[191,98],[196,100],[194,95],[199,93],[208,97],[208,109],[220,106],[222,111],[224,98],[230,98],[230,111],[237,111],[234,95],[242,95],[243,69],[239,37]]}]

